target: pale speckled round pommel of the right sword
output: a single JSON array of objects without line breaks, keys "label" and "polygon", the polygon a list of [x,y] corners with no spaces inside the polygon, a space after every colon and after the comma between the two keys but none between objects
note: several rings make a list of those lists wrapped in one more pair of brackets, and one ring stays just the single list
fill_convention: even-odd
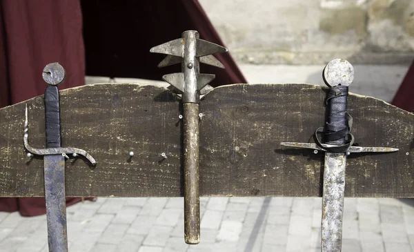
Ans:
[{"label": "pale speckled round pommel of the right sword", "polygon": [[354,78],[355,72],[351,63],[345,59],[334,59],[329,62],[322,73],[325,84],[332,86],[349,86]]}]

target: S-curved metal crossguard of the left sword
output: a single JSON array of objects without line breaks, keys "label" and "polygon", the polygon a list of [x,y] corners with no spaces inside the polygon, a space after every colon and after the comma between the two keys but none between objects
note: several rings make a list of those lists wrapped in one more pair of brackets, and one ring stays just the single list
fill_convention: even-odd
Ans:
[{"label": "S-curved metal crossguard of the left sword", "polygon": [[29,153],[32,153],[33,155],[39,155],[39,156],[56,155],[56,154],[81,155],[83,157],[86,157],[86,159],[89,160],[90,164],[92,164],[91,168],[95,168],[95,165],[97,164],[95,159],[91,155],[89,155],[89,153],[87,153],[86,151],[83,151],[80,148],[72,148],[72,147],[66,147],[66,148],[62,148],[62,147],[59,147],[59,148],[33,148],[32,146],[29,145],[28,130],[29,130],[29,126],[28,126],[28,105],[26,104],[23,143],[24,143],[24,148],[26,148],[26,150]]}]

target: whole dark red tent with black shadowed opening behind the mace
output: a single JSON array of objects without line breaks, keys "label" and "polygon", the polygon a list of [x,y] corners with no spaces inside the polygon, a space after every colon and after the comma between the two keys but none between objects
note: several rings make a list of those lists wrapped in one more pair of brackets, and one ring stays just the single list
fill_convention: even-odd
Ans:
[{"label": "whole dark red tent with black shadowed opening behind the mace", "polygon": [[[67,72],[60,89],[83,85],[85,68],[88,75],[160,80],[179,66],[158,69],[164,56],[149,50],[184,30],[223,45],[196,0],[0,0],[0,107],[42,95],[41,72],[55,61]],[[229,53],[216,56],[226,70],[201,66],[217,75],[213,86],[246,83]],[[0,211],[40,215],[45,201],[0,198]]]}]

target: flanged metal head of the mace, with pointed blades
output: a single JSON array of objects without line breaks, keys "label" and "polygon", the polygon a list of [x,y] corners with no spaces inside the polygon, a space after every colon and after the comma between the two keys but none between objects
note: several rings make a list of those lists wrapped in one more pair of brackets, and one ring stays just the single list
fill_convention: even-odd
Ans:
[{"label": "flanged metal head of the mace, with pointed blades", "polygon": [[158,67],[181,63],[181,71],[164,75],[162,79],[175,87],[177,93],[182,94],[184,103],[199,103],[199,95],[210,90],[208,85],[215,75],[200,74],[199,63],[224,68],[223,64],[212,54],[227,52],[223,46],[199,39],[196,30],[187,30],[182,33],[181,39],[163,43],[150,49],[150,52],[167,55]]}]

